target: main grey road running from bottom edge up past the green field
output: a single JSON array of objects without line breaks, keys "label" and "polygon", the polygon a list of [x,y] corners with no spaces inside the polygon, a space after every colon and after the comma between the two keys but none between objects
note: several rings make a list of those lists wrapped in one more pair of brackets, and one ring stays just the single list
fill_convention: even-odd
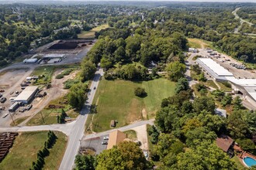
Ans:
[{"label": "main grey road running from bottom edge up past the green field", "polygon": [[64,154],[64,158],[62,159],[60,170],[71,170],[74,167],[74,158],[75,155],[78,154],[78,149],[80,146],[81,138],[84,135],[85,131],[85,121],[87,120],[87,116],[90,110],[90,106],[92,104],[92,100],[95,96],[95,89],[94,87],[98,87],[100,76],[103,75],[103,70],[99,69],[95,73],[95,77],[92,80],[92,85],[90,87],[91,93],[88,96],[88,100],[81,110],[81,114],[78,116],[76,123],[74,124],[73,128],[71,128],[72,133],[69,135],[67,141],[67,149]]}]

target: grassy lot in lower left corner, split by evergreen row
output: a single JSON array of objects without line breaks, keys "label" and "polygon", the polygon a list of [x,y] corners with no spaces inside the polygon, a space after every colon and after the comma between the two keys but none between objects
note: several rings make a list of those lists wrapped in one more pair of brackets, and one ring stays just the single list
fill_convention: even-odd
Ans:
[{"label": "grassy lot in lower left corner, split by evergreen row", "polygon": [[[50,148],[50,155],[45,158],[43,169],[57,169],[67,145],[67,139],[61,132],[54,132],[57,141],[53,148]],[[37,151],[43,148],[44,141],[47,141],[47,131],[23,132],[14,141],[9,154],[0,163],[0,169],[29,169],[32,162],[36,161]]]}]

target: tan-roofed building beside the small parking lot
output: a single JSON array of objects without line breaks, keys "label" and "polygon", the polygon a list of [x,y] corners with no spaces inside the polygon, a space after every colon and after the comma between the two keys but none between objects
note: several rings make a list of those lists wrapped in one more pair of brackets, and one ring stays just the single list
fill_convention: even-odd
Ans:
[{"label": "tan-roofed building beside the small parking lot", "polygon": [[113,148],[113,146],[118,145],[120,142],[124,141],[127,138],[126,134],[122,131],[112,131],[109,134],[109,142],[107,149]]}]

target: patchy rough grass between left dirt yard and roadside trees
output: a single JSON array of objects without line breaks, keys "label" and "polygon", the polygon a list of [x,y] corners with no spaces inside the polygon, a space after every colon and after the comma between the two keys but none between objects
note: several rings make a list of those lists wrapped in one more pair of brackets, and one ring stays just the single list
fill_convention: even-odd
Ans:
[{"label": "patchy rough grass between left dirt yard and roadside trees", "polygon": [[[67,101],[67,96],[57,98],[56,100],[50,101],[50,104],[54,104],[57,106],[63,106],[66,114],[68,117],[74,118],[78,117],[78,112],[71,108],[69,104],[60,104],[60,102]],[[43,108],[38,114],[32,117],[27,125],[41,125],[41,124],[57,124],[57,115],[61,115],[61,108],[48,108],[50,105],[48,104],[47,107]],[[42,117],[43,116],[43,117]],[[19,121],[19,120],[16,120]]]}]

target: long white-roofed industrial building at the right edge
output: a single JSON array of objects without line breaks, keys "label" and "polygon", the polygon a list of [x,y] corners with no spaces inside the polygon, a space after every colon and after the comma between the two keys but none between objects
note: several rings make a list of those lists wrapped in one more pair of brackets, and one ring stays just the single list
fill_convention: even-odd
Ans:
[{"label": "long white-roofed industrial building at the right edge", "polygon": [[251,100],[251,102],[254,102],[254,104],[256,104],[255,79],[237,79],[236,77],[234,77],[233,73],[230,73],[223,66],[220,66],[220,64],[213,61],[213,59],[198,58],[196,59],[195,62],[198,63],[203,70],[205,70],[207,73],[213,76],[214,80],[229,81],[230,83],[234,84],[234,86],[237,88],[235,91],[240,91],[240,93],[247,94],[248,97],[253,99]]}]

